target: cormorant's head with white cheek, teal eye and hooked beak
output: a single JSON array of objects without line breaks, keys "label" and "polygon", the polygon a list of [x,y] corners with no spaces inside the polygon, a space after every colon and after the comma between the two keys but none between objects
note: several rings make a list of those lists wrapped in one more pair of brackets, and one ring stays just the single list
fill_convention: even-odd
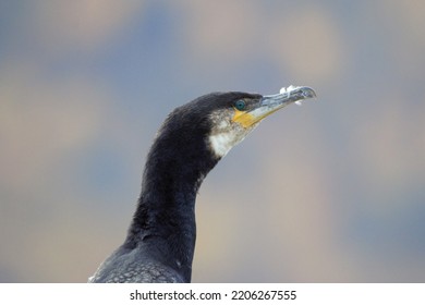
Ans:
[{"label": "cormorant's head with white cheek, teal eye and hooked beak", "polygon": [[162,155],[170,154],[170,159],[174,160],[183,156],[184,162],[210,159],[212,163],[205,167],[210,169],[264,118],[292,102],[315,96],[309,87],[289,86],[279,94],[267,96],[229,91],[198,97],[168,115],[158,131],[153,151],[162,147]]}]

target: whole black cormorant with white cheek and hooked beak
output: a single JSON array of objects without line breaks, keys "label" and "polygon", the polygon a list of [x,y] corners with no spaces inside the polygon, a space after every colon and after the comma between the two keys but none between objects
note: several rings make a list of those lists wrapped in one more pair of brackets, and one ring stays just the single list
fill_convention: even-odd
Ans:
[{"label": "whole black cormorant with white cheek and hooked beak", "polygon": [[89,282],[190,282],[204,178],[264,118],[315,96],[294,86],[269,96],[212,93],[174,109],[148,152],[126,239]]}]

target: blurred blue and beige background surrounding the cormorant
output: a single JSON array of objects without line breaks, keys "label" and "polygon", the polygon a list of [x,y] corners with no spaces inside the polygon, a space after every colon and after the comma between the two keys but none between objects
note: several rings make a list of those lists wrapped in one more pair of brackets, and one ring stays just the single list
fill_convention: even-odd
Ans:
[{"label": "blurred blue and beige background surrounding the cormorant", "polygon": [[425,281],[424,1],[0,1],[0,281],[85,282],[125,236],[168,112],[318,98],[197,197],[194,282]]}]

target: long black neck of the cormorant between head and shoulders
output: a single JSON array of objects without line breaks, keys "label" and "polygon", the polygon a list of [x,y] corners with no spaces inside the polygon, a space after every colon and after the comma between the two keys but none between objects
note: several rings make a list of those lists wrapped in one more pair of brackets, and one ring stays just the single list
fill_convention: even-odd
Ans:
[{"label": "long black neck of the cormorant between head and shoulders", "polygon": [[196,240],[196,193],[219,160],[203,137],[193,137],[196,134],[187,141],[181,135],[158,135],[147,157],[142,194],[124,244],[146,246],[187,282]]}]

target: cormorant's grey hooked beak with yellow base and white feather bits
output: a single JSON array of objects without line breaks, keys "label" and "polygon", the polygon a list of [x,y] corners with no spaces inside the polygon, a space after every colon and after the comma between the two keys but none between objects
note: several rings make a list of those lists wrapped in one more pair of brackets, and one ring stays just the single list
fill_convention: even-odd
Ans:
[{"label": "cormorant's grey hooked beak with yellow base and white feather bits", "polygon": [[301,105],[304,99],[314,97],[316,93],[309,87],[289,86],[282,88],[277,95],[263,96],[258,107],[247,112],[236,112],[233,120],[244,127],[250,127],[288,105],[293,102]]}]

